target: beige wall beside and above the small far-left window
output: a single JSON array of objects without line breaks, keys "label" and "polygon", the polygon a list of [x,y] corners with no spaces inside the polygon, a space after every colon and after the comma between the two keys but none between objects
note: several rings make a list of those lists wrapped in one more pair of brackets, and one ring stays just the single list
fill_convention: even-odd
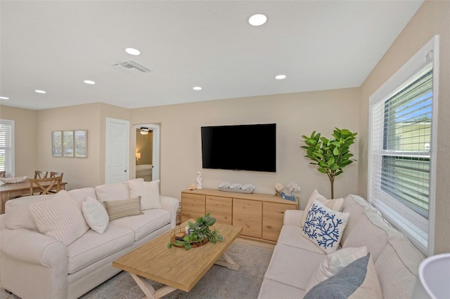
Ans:
[{"label": "beige wall beside and above the small far-left window", "polygon": [[36,111],[0,106],[0,119],[10,119],[15,126],[15,173],[34,176],[37,170]]}]

